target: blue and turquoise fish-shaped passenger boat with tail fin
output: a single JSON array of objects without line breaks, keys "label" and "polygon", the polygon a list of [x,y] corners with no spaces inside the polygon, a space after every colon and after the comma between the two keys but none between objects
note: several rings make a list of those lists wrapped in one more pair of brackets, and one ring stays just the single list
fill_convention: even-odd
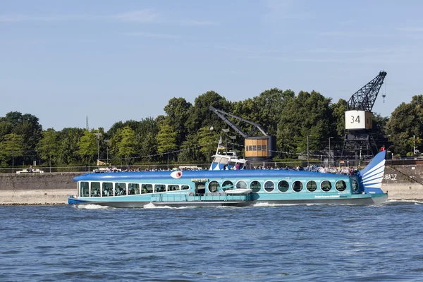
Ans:
[{"label": "blue and turquoise fish-shaped passenger boat with tail fin", "polygon": [[380,204],[385,154],[353,175],[288,170],[142,171],[88,173],[73,178],[68,203],[108,207]]}]

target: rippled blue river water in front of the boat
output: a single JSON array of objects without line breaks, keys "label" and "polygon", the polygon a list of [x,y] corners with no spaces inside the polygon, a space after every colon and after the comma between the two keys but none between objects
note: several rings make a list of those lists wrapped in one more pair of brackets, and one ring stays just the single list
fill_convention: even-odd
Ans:
[{"label": "rippled blue river water in front of the boat", "polygon": [[422,281],[422,212],[0,207],[0,281]]}]

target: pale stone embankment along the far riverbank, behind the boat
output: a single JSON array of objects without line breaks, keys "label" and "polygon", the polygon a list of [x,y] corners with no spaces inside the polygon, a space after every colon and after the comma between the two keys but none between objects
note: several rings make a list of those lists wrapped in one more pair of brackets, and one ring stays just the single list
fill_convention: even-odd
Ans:
[{"label": "pale stone embankment along the far riverbank, behind the boat", "polygon": [[[1,204],[66,204],[80,173],[0,174]],[[386,166],[382,189],[389,200],[423,200],[423,165]]]}]

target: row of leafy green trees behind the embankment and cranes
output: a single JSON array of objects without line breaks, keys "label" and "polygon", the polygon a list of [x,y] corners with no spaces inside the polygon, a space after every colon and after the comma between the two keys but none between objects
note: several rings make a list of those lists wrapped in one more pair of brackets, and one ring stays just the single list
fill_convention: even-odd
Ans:
[{"label": "row of leafy green trees behind the embankment and cranes", "polygon": [[[309,150],[341,149],[344,135],[344,113],[347,102],[319,92],[266,90],[257,97],[230,102],[213,91],[201,94],[194,104],[184,98],[172,98],[164,107],[166,115],[141,121],[119,121],[104,132],[103,128],[63,128],[43,130],[39,119],[31,114],[10,112],[0,117],[0,166],[17,166],[41,161],[42,164],[81,165],[97,161],[111,164],[145,162],[208,161],[216,150],[219,136],[243,145],[243,137],[229,128],[209,106],[262,125],[276,135],[278,158],[296,157]],[[250,125],[233,120],[245,133]],[[211,128],[213,128],[211,130]],[[400,104],[390,117],[374,114],[373,128],[379,147],[393,154],[411,155],[419,149],[423,136],[423,96],[412,97]],[[225,135],[226,134],[226,135]],[[229,136],[235,135],[232,140]],[[331,138],[333,137],[333,138]],[[229,147],[229,146],[228,146]],[[239,151],[243,146],[236,147]]]}]

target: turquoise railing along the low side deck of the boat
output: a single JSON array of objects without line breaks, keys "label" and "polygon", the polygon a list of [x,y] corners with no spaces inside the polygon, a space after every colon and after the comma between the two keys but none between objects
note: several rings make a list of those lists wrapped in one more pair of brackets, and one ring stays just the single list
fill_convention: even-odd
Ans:
[{"label": "turquoise railing along the low side deck of the boat", "polygon": [[154,194],[151,196],[151,202],[228,202],[228,201],[249,201],[251,200],[250,194],[248,195],[227,195],[223,192],[212,192],[204,194],[195,194],[193,192],[180,194]]}]

